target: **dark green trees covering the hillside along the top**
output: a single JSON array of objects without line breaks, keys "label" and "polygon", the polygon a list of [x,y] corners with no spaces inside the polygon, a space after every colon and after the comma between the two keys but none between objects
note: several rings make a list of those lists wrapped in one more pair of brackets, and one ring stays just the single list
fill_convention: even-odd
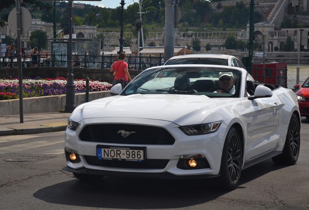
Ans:
[{"label": "dark green trees covering the hillside along the top", "polygon": [[[220,0],[210,0],[216,2]],[[86,1],[85,1],[86,2]],[[249,19],[249,7],[243,2],[235,6],[228,6],[222,13],[213,11],[207,0],[179,0],[182,17],[178,26],[180,28],[235,28],[240,29],[246,26]],[[165,0],[140,0],[143,25],[155,31],[164,27]],[[53,22],[52,1],[23,0],[22,6],[28,8],[33,18],[40,18],[45,22]],[[0,1],[0,23],[7,21],[12,8],[15,7],[15,0]],[[56,1],[56,23],[62,29],[69,25],[69,3],[67,1]],[[73,25],[97,26],[100,31],[108,32],[110,29],[120,28],[120,4],[117,8],[102,8],[85,4],[85,9],[73,8]],[[124,9],[124,25],[129,31],[134,30],[134,22],[139,18],[139,6],[135,2]],[[255,22],[262,20],[261,15],[255,14]]]}]

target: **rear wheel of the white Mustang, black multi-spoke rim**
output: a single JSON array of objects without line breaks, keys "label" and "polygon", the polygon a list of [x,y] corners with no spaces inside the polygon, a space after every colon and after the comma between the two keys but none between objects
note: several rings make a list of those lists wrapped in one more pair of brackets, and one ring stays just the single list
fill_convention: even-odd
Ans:
[{"label": "rear wheel of the white Mustang, black multi-spoke rim", "polygon": [[292,115],[287,137],[285,139],[283,153],[273,157],[275,163],[294,165],[300,151],[300,124],[295,114]]}]

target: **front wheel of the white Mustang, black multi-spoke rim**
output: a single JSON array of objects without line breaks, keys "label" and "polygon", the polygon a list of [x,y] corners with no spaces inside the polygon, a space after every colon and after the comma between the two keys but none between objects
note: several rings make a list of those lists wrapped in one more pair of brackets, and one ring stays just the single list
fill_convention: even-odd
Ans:
[{"label": "front wheel of the white Mustang, black multi-spoke rim", "polygon": [[233,190],[240,181],[242,166],[242,147],[240,135],[235,127],[232,127],[226,136],[221,159],[221,176],[219,184],[223,189]]}]

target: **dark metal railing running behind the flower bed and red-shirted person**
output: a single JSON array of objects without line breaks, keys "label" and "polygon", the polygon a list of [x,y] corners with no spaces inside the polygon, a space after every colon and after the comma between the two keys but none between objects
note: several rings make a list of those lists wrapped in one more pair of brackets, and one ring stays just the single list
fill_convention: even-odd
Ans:
[{"label": "dark metal railing running behind the flower bed and red-shirted person", "polygon": [[[110,69],[113,63],[117,60],[118,55],[89,55],[77,54],[77,60],[79,65],[74,67],[79,68],[93,68],[93,69]],[[22,67],[27,68],[33,65],[33,55],[22,55]],[[145,70],[149,67],[161,66],[164,64],[163,57],[160,53],[159,56],[139,56],[129,55],[126,58],[130,70]],[[74,65],[75,61],[72,61]],[[51,54],[51,53],[38,53],[37,55],[37,67],[67,67],[68,54]],[[0,68],[13,68],[17,67],[17,55],[1,56]]]}]

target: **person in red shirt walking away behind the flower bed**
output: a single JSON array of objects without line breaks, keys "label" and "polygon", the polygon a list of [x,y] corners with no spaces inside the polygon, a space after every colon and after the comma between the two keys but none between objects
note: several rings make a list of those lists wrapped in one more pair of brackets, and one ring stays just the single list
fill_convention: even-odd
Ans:
[{"label": "person in red shirt walking away behind the flower bed", "polygon": [[123,79],[123,88],[132,81],[128,70],[128,64],[124,61],[125,58],[125,53],[120,53],[118,55],[119,60],[115,61],[109,70],[110,72],[113,72],[114,75],[113,86],[120,83],[121,78]]}]

